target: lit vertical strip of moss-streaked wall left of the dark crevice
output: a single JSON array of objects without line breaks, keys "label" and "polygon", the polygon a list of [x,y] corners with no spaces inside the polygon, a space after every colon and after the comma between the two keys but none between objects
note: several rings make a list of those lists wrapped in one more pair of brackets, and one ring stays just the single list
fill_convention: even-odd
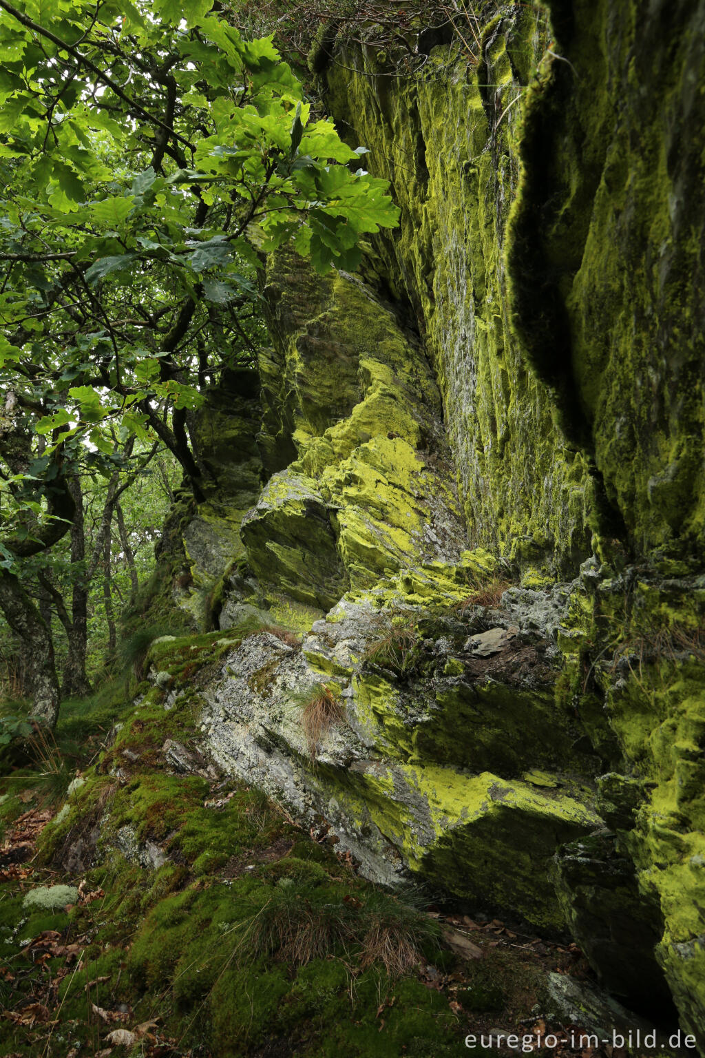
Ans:
[{"label": "lit vertical strip of moss-streaked wall left of the dark crevice", "polygon": [[543,559],[545,577],[590,553],[594,487],[589,457],[569,446],[551,395],[526,371],[506,309],[515,104],[544,32],[538,13],[517,8],[483,26],[477,65],[459,58],[448,70],[437,50],[389,91],[378,53],[363,59],[351,47],[324,77],[333,113],[354,115],[351,142],[370,146],[373,171],[402,207],[401,233],[377,241],[375,267],[412,305],[433,360],[470,540],[522,566]]}]

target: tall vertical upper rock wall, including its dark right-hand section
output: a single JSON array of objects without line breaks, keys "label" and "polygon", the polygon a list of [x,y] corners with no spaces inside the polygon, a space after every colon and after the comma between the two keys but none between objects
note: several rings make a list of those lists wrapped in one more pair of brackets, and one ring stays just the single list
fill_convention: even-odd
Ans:
[{"label": "tall vertical upper rock wall, including its dark right-hand section", "polygon": [[487,6],[469,62],[390,78],[341,44],[322,73],[402,206],[381,267],[435,365],[472,543],[571,576],[614,535],[700,563],[705,8]]}]

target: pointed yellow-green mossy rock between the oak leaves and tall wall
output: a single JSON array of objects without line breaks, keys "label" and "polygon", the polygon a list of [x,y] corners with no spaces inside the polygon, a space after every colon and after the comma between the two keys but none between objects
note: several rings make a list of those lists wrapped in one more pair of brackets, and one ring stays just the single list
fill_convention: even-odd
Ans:
[{"label": "pointed yellow-green mossy rock between the oak leaves and tall wall", "polygon": [[439,534],[459,554],[465,534],[422,349],[370,288],[314,276],[293,253],[268,262],[266,294],[264,443],[289,436],[297,458],[243,523],[259,580],[328,609],[349,586],[434,557]]}]

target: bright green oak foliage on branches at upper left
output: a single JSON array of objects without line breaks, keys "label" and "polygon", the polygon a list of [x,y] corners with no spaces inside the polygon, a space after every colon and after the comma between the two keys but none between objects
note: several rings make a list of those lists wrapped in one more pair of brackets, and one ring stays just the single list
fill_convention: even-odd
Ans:
[{"label": "bright green oak foliage on branches at upper left", "polygon": [[262,254],[354,268],[396,223],[385,182],[209,0],[2,0],[0,104],[0,512],[32,533],[52,479],[109,477],[130,436],[200,498],[188,417],[256,354]]}]

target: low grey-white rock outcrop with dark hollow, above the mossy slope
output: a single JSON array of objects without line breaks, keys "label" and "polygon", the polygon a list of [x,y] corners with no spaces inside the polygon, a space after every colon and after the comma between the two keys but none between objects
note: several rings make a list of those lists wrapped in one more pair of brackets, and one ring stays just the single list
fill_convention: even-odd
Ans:
[{"label": "low grey-white rock outcrop with dark hollow, above the mossy slope", "polygon": [[[463,645],[467,619],[426,613],[416,610],[419,639],[403,673],[393,657],[365,660],[386,621],[368,600],[344,600],[300,650],[266,632],[247,637],[206,693],[214,755],[299,814],[323,816],[377,880],[421,873],[560,933],[563,915],[544,883],[551,858],[599,819],[589,755],[575,754],[571,774],[532,767],[560,766],[575,741],[545,690],[545,644],[520,634],[495,660],[478,659]],[[323,679],[345,711],[323,731],[314,766],[302,716]]]}]

